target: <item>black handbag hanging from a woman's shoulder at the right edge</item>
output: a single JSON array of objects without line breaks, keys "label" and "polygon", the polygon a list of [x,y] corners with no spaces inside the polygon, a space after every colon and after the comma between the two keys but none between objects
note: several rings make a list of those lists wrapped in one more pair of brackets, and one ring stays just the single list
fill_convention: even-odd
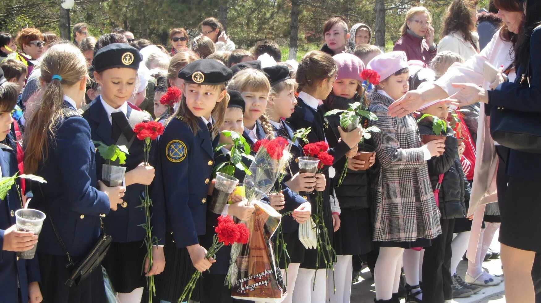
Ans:
[{"label": "black handbag hanging from a woman's shoulder at the right edge", "polygon": [[[520,84],[530,86],[530,62]],[[519,101],[519,100],[518,100]],[[539,101],[541,101],[541,96]],[[490,109],[490,134],[505,147],[525,153],[541,154],[541,115],[513,111],[504,107]]]}]

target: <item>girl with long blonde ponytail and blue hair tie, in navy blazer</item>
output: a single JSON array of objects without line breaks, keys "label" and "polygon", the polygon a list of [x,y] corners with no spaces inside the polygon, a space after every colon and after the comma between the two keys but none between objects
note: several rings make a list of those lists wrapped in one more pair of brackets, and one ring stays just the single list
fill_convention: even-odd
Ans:
[{"label": "girl with long blonde ponytail and blue hair tie, in navy blazer", "polygon": [[[77,112],[84,102],[87,64],[77,47],[52,46],[41,58],[43,95],[25,129],[25,173],[47,183],[32,184],[30,208],[47,215],[39,237],[37,257],[44,302],[104,302],[101,270],[78,286],[65,281],[73,267],[52,229],[51,218],[74,262],[81,260],[100,236],[100,217],[122,203],[123,187],[105,187],[96,180],[90,127]],[[100,187],[100,190],[97,187]]]}]

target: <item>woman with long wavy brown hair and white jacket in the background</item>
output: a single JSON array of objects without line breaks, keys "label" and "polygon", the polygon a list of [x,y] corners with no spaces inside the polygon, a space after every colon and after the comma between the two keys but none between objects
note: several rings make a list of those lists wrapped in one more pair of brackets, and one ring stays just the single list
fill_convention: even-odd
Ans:
[{"label": "woman with long wavy brown hair and white jacket in the background", "polygon": [[479,36],[475,32],[477,23],[477,0],[455,0],[445,15],[438,53],[452,51],[464,60],[479,53]]}]

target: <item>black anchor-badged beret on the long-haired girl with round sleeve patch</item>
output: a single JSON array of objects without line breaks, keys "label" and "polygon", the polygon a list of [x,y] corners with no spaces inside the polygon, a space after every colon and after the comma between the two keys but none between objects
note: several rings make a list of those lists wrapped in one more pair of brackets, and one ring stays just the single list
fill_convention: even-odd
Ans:
[{"label": "black anchor-badged beret on the long-haired girl with round sleeve patch", "polygon": [[184,66],[179,78],[186,83],[219,85],[229,81],[233,74],[223,63],[213,59],[199,59]]}]

